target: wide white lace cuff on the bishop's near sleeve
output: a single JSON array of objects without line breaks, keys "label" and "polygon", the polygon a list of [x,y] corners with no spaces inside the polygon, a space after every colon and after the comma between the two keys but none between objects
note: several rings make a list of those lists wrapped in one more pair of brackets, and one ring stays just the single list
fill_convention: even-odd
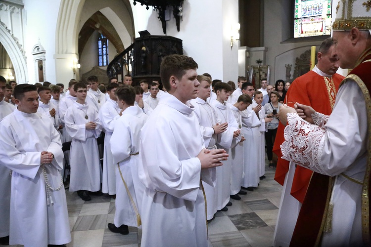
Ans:
[{"label": "wide white lace cuff on the bishop's near sleeve", "polygon": [[288,113],[287,126],[283,133],[285,141],[280,146],[282,159],[328,175],[322,168],[321,162],[325,143],[324,134],[325,129],[323,127],[309,124],[296,113]]}]

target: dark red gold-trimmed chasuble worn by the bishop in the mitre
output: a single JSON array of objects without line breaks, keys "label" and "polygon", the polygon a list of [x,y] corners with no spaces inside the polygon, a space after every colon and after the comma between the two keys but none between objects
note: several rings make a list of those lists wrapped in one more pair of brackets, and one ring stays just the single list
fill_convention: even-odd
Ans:
[{"label": "dark red gold-trimmed chasuble worn by the bishop in the mitre", "polygon": [[[367,62],[365,62],[367,61]],[[367,49],[358,59],[356,68],[346,78],[351,78],[363,91],[367,115],[368,128],[371,129],[371,48]],[[370,222],[371,208],[369,197],[371,193],[371,137],[369,131],[368,159],[365,179],[362,188],[362,233],[365,246],[371,245]],[[326,221],[326,214],[332,190],[333,177],[314,173],[310,181],[307,195],[300,209],[290,247],[319,246]],[[327,189],[326,189],[327,188]]]}]

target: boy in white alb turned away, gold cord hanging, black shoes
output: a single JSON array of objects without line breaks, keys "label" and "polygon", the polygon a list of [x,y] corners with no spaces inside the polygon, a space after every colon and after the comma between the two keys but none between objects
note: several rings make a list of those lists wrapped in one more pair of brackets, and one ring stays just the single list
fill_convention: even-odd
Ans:
[{"label": "boy in white alb turned away, gold cord hanging, black shoes", "polygon": [[[139,181],[139,138],[140,129],[148,116],[139,106],[134,106],[136,92],[131,85],[117,88],[117,102],[123,110],[116,121],[111,137],[111,150],[116,167],[116,212],[114,224],[108,223],[108,229],[115,233],[128,234],[128,226],[138,227],[137,212],[140,213],[144,185]],[[120,170],[119,170],[120,169]],[[120,172],[121,171],[121,172]],[[122,176],[122,177],[121,177]],[[126,182],[130,196],[125,188]],[[132,197],[133,202],[130,197]],[[137,211],[134,208],[137,208]]]}]

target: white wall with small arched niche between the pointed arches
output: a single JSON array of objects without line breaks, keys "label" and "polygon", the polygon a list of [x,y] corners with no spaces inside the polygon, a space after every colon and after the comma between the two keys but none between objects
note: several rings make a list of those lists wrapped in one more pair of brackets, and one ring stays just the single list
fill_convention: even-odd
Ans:
[{"label": "white wall with small arched niche between the pointed arches", "polygon": [[[35,64],[31,54],[35,44],[40,43],[46,50],[46,78],[45,81],[51,83],[59,83],[55,76],[55,27],[59,10],[60,0],[45,1],[45,0],[24,0],[24,8],[27,13],[27,23],[25,34],[27,42],[25,42],[25,51],[27,56],[27,68],[29,83],[36,83]],[[60,82],[63,83],[63,82]]]}]

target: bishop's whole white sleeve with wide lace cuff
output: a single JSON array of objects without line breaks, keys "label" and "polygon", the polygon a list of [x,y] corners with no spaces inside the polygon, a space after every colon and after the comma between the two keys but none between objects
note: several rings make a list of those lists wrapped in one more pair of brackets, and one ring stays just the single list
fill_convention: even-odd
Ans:
[{"label": "bishop's whole white sleeve with wide lace cuff", "polygon": [[341,86],[323,128],[297,114],[287,114],[284,159],[316,172],[335,176],[367,152],[367,110],[360,87],[348,80]]}]

